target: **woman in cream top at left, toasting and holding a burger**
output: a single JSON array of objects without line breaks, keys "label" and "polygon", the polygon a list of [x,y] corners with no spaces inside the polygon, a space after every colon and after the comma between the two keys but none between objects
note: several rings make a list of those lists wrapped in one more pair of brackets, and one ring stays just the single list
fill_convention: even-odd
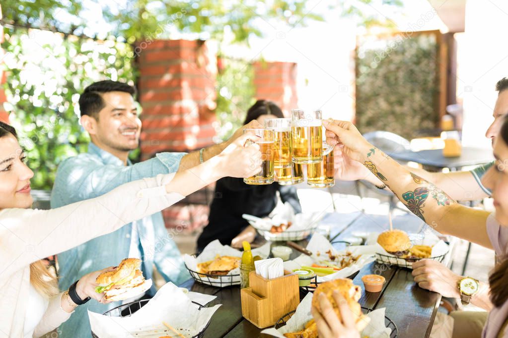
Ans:
[{"label": "woman in cream top at left, toasting and holding a burger", "polygon": [[[56,280],[41,259],[161,211],[222,177],[256,174],[261,170],[259,146],[245,145],[252,137],[256,136],[238,137],[217,156],[194,168],[132,181],[105,195],[64,207],[32,210],[30,179],[34,172],[24,163],[14,128],[0,122],[0,337],[41,336],[66,321],[90,298],[108,302],[104,292],[96,292],[97,287],[104,286],[97,277],[103,273],[114,277],[115,273],[108,272],[118,269],[92,272],[58,293]],[[132,268],[139,262],[126,265]],[[131,275],[133,286],[143,282],[136,280],[136,270],[131,270]],[[99,279],[110,284],[114,281],[118,279]]]}]

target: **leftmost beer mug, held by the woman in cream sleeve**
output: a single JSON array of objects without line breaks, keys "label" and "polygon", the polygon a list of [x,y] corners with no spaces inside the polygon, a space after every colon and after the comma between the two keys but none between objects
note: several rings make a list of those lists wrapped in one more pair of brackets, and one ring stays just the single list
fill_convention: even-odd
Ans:
[{"label": "leftmost beer mug, held by the woman in cream sleeve", "polygon": [[[252,133],[256,136],[256,142],[259,144],[261,150],[261,171],[256,175],[244,178],[243,181],[247,184],[271,184],[273,183],[273,143],[274,131],[272,129],[244,129],[243,133]],[[252,163],[257,165],[257,163]]]}]

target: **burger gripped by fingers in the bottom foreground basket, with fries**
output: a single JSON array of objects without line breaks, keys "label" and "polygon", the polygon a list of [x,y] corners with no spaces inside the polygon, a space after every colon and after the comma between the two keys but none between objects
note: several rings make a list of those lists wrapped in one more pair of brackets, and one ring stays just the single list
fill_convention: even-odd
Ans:
[{"label": "burger gripped by fingers in the bottom foreground basket, with fries", "polygon": [[[353,312],[353,318],[355,318],[356,329],[358,332],[363,331],[370,321],[370,318],[362,313],[362,307],[358,303],[358,300],[362,296],[362,290],[358,285],[353,284],[353,281],[348,278],[334,279],[328,282],[321,283],[317,286],[312,296],[312,307],[317,311],[321,312],[321,306],[318,298],[320,293],[324,293],[328,298],[328,301],[333,306],[333,310],[340,319],[340,311],[335,303],[335,299],[332,296],[333,291],[339,291],[347,302],[348,308]],[[284,333],[284,336],[288,338],[317,338],[317,327],[313,319],[311,319],[305,328],[298,332]]]}]

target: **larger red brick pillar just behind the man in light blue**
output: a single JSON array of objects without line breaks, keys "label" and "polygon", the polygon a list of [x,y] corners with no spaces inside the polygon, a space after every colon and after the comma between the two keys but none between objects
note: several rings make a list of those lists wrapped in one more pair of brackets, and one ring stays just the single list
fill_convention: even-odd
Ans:
[{"label": "larger red brick pillar just behind the man in light blue", "polygon": [[[188,152],[213,144],[216,57],[206,42],[157,40],[135,52],[140,71],[142,160],[157,152]],[[208,193],[213,194],[213,186]],[[197,192],[163,211],[167,228],[184,231],[207,224],[206,192]],[[180,229],[180,228],[177,228]]]}]

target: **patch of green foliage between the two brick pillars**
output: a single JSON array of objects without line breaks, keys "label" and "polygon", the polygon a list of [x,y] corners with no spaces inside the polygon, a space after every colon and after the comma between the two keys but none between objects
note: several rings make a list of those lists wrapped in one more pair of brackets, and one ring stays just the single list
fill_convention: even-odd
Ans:
[{"label": "patch of green foliage between the two brick pillars", "polygon": [[241,127],[247,109],[256,102],[254,69],[243,60],[220,58],[220,62],[224,69],[217,74],[217,136],[227,140]]}]

